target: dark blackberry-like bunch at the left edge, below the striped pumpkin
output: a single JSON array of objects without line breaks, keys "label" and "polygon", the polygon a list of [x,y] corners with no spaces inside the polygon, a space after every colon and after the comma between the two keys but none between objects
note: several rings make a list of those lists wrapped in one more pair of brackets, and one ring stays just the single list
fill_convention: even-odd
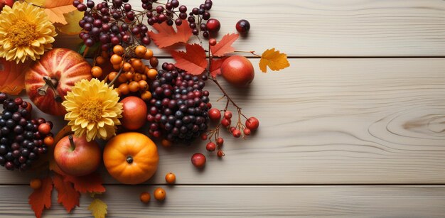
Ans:
[{"label": "dark blackberry-like bunch at the left edge, below the striped pumpkin", "polygon": [[[34,160],[48,153],[48,147],[43,143],[53,128],[50,121],[43,118],[31,118],[31,105],[21,98],[10,99],[0,92],[0,104],[3,111],[0,114],[0,165],[7,170],[28,170]],[[43,133],[39,131],[41,124],[49,126]]]}]

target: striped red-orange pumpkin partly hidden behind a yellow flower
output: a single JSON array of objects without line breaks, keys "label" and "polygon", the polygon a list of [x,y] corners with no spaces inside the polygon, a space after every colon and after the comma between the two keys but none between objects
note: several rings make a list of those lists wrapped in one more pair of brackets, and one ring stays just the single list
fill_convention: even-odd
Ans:
[{"label": "striped red-orange pumpkin partly hidden behind a yellow flower", "polygon": [[45,53],[26,71],[25,88],[29,99],[46,114],[66,114],[62,102],[75,82],[91,80],[91,66],[82,55],[66,48]]}]

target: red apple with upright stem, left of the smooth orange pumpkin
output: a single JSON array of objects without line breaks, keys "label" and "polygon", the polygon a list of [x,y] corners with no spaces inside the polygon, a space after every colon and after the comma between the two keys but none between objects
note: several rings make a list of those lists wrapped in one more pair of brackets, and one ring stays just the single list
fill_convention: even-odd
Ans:
[{"label": "red apple with upright stem, left of the smooth orange pumpkin", "polygon": [[89,175],[99,167],[102,152],[96,141],[87,141],[85,136],[77,138],[69,135],[55,145],[54,160],[68,175]]}]

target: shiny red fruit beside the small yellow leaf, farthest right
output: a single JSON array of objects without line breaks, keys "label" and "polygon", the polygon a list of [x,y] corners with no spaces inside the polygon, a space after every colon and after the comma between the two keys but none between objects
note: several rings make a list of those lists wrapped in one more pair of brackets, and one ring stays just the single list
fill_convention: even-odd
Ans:
[{"label": "shiny red fruit beside the small yellow leaf, farthest right", "polygon": [[250,60],[240,55],[227,58],[221,65],[221,74],[227,82],[238,87],[249,85],[255,76]]}]

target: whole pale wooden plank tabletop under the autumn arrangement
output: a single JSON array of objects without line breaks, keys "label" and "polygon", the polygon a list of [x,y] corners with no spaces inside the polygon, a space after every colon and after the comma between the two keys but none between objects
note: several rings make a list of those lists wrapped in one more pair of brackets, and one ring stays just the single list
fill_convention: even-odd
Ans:
[{"label": "whole pale wooden plank tabletop under the autumn arrangement", "polygon": [[[220,33],[250,21],[237,50],[274,47],[291,67],[258,70],[247,94],[226,86],[260,128],[245,141],[226,136],[226,156],[209,155],[205,170],[190,161],[205,153],[200,141],[160,147],[159,170],[144,185],[119,185],[102,167],[109,217],[444,216],[445,1],[214,0],[211,13]],[[221,94],[208,89],[215,103]],[[173,187],[163,179],[170,171]],[[34,176],[0,170],[0,217],[33,217]],[[139,202],[155,187],[165,187],[165,202]],[[82,197],[68,215],[54,198],[44,217],[89,217],[89,204]]]}]

